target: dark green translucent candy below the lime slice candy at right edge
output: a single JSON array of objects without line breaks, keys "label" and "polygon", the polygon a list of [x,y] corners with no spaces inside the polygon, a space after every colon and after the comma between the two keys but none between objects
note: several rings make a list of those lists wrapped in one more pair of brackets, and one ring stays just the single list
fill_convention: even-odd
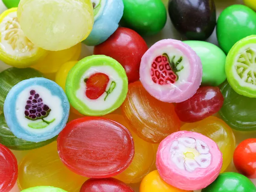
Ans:
[{"label": "dark green translucent candy below the lime slice candy at right edge", "polygon": [[221,86],[221,93],[224,96],[219,111],[221,119],[236,130],[256,130],[256,98],[239,95],[227,81]]}]

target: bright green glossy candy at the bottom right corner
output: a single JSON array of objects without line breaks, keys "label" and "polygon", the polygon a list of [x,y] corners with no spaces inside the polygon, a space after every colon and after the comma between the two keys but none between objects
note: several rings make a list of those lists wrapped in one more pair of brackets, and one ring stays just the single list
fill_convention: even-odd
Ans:
[{"label": "bright green glossy candy at the bottom right corner", "polygon": [[235,172],[221,173],[202,192],[256,192],[256,187],[244,175]]}]

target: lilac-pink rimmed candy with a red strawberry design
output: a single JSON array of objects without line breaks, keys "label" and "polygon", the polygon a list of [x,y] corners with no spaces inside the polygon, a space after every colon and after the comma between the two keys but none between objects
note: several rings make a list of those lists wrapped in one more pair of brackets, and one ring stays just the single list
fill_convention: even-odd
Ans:
[{"label": "lilac-pink rimmed candy with a red strawberry design", "polygon": [[178,40],[156,42],[140,63],[143,87],[163,102],[183,102],[192,97],[202,81],[202,63],[188,45]]}]

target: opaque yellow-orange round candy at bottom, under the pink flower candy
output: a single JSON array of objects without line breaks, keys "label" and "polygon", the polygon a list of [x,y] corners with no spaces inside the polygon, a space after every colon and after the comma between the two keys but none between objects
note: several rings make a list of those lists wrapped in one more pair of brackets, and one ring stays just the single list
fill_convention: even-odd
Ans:
[{"label": "opaque yellow-orange round candy at bottom, under the pink flower candy", "polygon": [[177,189],[174,186],[167,184],[157,170],[154,170],[146,175],[140,183],[140,192],[192,192],[182,189]]}]

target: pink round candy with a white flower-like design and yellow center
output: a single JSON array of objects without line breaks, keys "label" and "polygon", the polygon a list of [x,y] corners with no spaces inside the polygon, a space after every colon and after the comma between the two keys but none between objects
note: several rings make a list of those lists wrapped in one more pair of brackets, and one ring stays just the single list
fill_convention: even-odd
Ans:
[{"label": "pink round candy with a white flower-like design and yellow center", "polygon": [[198,190],[218,177],[222,153],[210,138],[178,131],[160,143],[156,166],[166,183],[183,190]]}]

